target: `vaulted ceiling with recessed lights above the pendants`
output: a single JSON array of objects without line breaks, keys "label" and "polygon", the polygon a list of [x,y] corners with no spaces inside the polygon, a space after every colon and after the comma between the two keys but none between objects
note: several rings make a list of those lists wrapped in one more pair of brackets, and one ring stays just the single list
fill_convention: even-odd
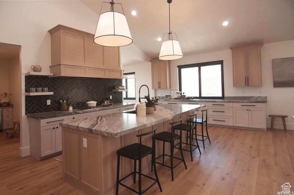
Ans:
[{"label": "vaulted ceiling with recessed lights above the pendants", "polygon": [[[103,1],[82,2],[99,15]],[[114,2],[123,6],[133,44],[158,59],[161,41],[157,38],[169,30],[167,1]],[[171,31],[176,33],[184,56],[294,40],[293,0],[173,0],[170,6]],[[137,14],[133,16],[132,11]],[[224,21],[228,26],[222,25]]]}]

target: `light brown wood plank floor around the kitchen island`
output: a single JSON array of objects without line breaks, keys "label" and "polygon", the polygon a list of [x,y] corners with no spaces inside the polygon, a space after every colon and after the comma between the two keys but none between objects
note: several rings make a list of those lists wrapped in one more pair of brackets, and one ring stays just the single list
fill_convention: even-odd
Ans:
[{"label": "light brown wood plank floor around the kitchen island", "polygon": [[[275,129],[267,132],[208,127],[211,144],[205,141],[202,154],[184,151],[183,163],[174,169],[174,181],[167,167],[158,165],[163,192],[154,185],[145,194],[228,195],[277,194],[283,185],[294,185],[294,131]],[[19,157],[20,139],[8,139],[0,132],[0,194],[82,195],[62,181],[62,163],[57,155],[42,161]],[[187,147],[187,146],[185,146]],[[175,156],[180,157],[179,152]],[[169,164],[169,159],[166,159]],[[148,175],[154,177],[154,173]],[[152,181],[142,178],[142,189]],[[137,188],[138,182],[133,184]],[[135,194],[124,190],[120,195]]]}]

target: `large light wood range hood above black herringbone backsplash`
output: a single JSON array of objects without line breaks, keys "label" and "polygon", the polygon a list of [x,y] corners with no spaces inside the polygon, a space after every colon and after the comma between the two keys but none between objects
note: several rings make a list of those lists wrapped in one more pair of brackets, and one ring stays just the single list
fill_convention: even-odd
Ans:
[{"label": "large light wood range hood above black herringbone backsplash", "polygon": [[63,25],[49,30],[53,77],[122,78],[120,48],[94,43],[94,34]]}]

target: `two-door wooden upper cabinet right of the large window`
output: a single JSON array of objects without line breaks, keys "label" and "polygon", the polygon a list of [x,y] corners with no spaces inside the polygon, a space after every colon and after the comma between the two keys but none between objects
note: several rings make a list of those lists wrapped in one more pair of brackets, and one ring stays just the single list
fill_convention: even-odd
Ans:
[{"label": "two-door wooden upper cabinet right of the large window", "polygon": [[262,86],[260,48],[263,43],[230,47],[233,51],[233,86]]}]

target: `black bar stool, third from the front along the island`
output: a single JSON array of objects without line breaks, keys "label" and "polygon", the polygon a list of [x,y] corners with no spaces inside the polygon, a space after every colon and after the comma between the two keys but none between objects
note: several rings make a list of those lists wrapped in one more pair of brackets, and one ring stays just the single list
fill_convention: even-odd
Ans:
[{"label": "black bar stool, third from the front along the island", "polygon": [[[190,121],[192,120],[192,117],[193,117],[193,116],[196,117],[196,115],[197,115],[197,113],[196,113],[196,114],[193,114],[193,115],[189,115],[189,117],[190,117]],[[186,142],[186,143],[183,142],[183,144],[190,145],[190,150],[187,150],[187,149],[182,149],[182,150],[185,150],[185,151],[187,151],[187,152],[190,152],[190,154],[191,154],[191,161],[193,162],[193,155],[192,155],[192,152],[198,148],[198,150],[199,150],[199,152],[200,152],[200,154],[201,154],[201,151],[200,151],[200,148],[199,148],[199,145],[198,145],[198,140],[196,139],[196,144],[197,144],[197,145],[192,144],[192,130],[196,129],[196,127],[193,126],[193,125],[191,124],[191,122],[190,122],[190,125],[187,125],[187,124],[178,124],[178,125],[175,125],[175,126],[173,127],[173,129],[174,129],[174,130],[181,130],[181,125],[182,125],[182,130],[183,130],[183,131],[187,131],[187,142]],[[188,133],[189,133],[190,135],[188,135]],[[188,144],[188,138],[190,139],[190,140],[189,140],[189,141],[190,141],[189,144]],[[178,143],[178,144],[180,144],[180,143]],[[176,149],[179,149],[179,148],[176,147],[178,144],[175,145],[175,148],[176,148]],[[195,148],[194,148],[193,150],[192,150],[192,146],[195,146]]]}]

